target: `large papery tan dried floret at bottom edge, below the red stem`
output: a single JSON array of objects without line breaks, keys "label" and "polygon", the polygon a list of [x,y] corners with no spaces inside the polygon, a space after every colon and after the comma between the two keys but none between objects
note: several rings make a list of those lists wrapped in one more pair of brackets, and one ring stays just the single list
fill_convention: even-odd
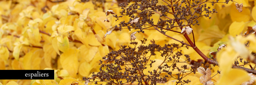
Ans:
[{"label": "large papery tan dried floret at bottom edge, below the red stem", "polygon": [[[200,82],[205,84],[206,82],[208,82],[208,80],[211,78],[211,75],[212,75],[212,71],[207,68],[205,70],[205,68],[203,67],[199,67],[197,68],[197,71],[201,74],[203,74],[201,77],[200,77]],[[210,80],[209,80],[210,81]]]}]

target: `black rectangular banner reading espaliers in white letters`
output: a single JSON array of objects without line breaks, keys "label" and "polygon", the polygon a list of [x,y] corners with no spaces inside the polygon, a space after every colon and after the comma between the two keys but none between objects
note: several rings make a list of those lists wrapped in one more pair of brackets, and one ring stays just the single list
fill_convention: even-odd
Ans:
[{"label": "black rectangular banner reading espaliers in white letters", "polygon": [[54,80],[54,70],[0,70],[0,80]]}]

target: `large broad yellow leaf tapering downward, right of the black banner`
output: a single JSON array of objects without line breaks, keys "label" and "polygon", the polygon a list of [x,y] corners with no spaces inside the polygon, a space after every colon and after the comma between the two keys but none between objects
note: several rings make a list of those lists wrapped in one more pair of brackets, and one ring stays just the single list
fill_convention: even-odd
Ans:
[{"label": "large broad yellow leaf tapering downward, right of the black banner", "polygon": [[76,78],[78,71],[78,49],[69,49],[67,52],[60,55],[60,63],[64,70],[69,72],[69,75]]}]

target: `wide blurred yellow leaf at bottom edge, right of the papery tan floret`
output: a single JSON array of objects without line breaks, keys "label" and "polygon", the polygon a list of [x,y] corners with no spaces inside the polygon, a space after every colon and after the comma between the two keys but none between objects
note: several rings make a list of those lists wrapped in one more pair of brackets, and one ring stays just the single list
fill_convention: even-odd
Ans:
[{"label": "wide blurred yellow leaf at bottom edge, right of the papery tan floret", "polygon": [[217,85],[241,85],[243,82],[247,82],[249,80],[250,76],[247,75],[246,71],[241,69],[232,69],[228,73],[221,73],[221,78],[217,82]]}]

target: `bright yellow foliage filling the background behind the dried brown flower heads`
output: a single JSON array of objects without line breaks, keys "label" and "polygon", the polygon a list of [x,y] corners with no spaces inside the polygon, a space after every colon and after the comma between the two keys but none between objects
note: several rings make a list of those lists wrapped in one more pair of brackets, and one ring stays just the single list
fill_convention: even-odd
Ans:
[{"label": "bright yellow foliage filling the background behind the dried brown flower heads", "polygon": [[[120,15],[121,9],[113,8],[118,7],[116,0],[107,0],[102,7],[95,5],[98,3],[93,1],[64,0],[64,2],[58,3],[54,1],[58,0],[0,1],[0,70],[55,70],[54,80],[0,80],[0,85],[26,85],[28,83],[30,85],[71,85],[74,82],[83,85],[85,81],[79,82],[77,80],[82,80],[81,76],[90,77],[92,72],[99,71],[99,60],[102,60],[102,57],[110,51],[120,49],[121,45],[133,47],[129,44],[131,42],[130,36],[132,32],[139,30],[131,29],[131,31],[128,31],[127,28],[124,28],[122,31],[118,31],[119,28],[115,27],[122,21],[128,22],[129,17],[123,16],[116,20],[115,17],[111,17],[112,15],[106,16],[105,14],[108,10],[113,10],[117,15]],[[159,0],[157,5],[168,5],[167,1]],[[200,1],[200,3],[204,1]],[[226,48],[221,49],[216,54],[219,66],[210,65],[213,68],[211,70],[213,78],[211,79],[217,85],[240,85],[242,82],[248,81],[249,76],[247,76],[246,71],[232,69],[231,67],[237,56],[250,60],[254,59],[251,53],[256,53],[255,35],[242,36],[245,32],[249,32],[250,27],[256,24],[256,3],[252,3],[256,0],[234,1],[230,1],[228,4],[215,3],[214,6],[207,3],[207,7],[216,8],[219,13],[210,14],[209,17],[212,17],[210,20],[208,17],[198,18],[200,26],[191,25],[194,34],[193,36],[192,34],[189,35],[189,38],[192,42],[195,41],[196,47],[206,56],[209,56],[211,51],[217,51],[219,44],[222,42],[227,44]],[[223,1],[220,0],[219,2]],[[236,2],[243,3],[242,12],[238,12],[235,6]],[[184,4],[181,6],[185,7]],[[160,12],[159,10],[156,11]],[[193,13],[195,10],[191,11]],[[141,10],[138,10],[138,12],[141,12]],[[163,20],[175,18],[173,13],[166,14],[168,17],[166,18],[164,16],[160,17],[161,13],[157,12],[153,12],[152,16],[149,17],[153,18],[155,25],[157,25],[159,18]],[[204,16],[204,14],[206,13],[195,13],[197,16]],[[137,13],[134,14],[135,17],[140,17],[139,19],[142,20],[143,17],[137,15]],[[110,22],[104,22],[105,19]],[[187,24],[187,21],[182,21],[181,24]],[[178,24],[175,23],[175,26],[178,26]],[[164,36],[154,30],[154,27],[149,25],[143,27],[149,27],[148,29],[152,30],[143,30],[145,34],[137,32],[135,41],[138,42],[138,45],[141,44],[140,40],[147,38],[148,41],[145,42],[145,45],[152,44],[153,42],[150,42],[150,40],[153,41],[154,39],[154,43],[160,46],[171,43],[181,46],[180,42]],[[181,31],[179,27],[174,27],[172,30],[177,32],[166,31],[166,34],[188,43],[184,35],[178,33]],[[112,31],[112,33],[105,37],[107,31]],[[229,37],[230,35],[232,37]],[[249,41],[249,47],[244,46],[247,41]],[[180,50],[182,50],[182,54],[188,54],[191,60],[203,60],[191,47],[189,49],[179,48],[175,52]],[[148,67],[143,71],[145,75],[150,75],[148,70],[157,69],[159,65],[163,64],[164,57],[161,57],[160,54],[157,53],[157,55],[151,56],[150,59],[157,62],[152,65],[152,68]],[[148,57],[150,54],[143,56]],[[185,56],[182,55],[180,61],[184,60]],[[103,61],[103,63],[106,63],[106,61]],[[177,67],[187,65],[189,70],[185,71],[190,71],[189,63],[177,63]],[[240,63],[240,65],[242,64]],[[183,68],[181,69],[183,70]],[[217,74],[217,70],[221,71],[221,74],[213,76]],[[176,69],[172,72],[173,76],[180,73]],[[200,73],[187,72],[183,75],[186,75],[183,80],[191,80],[189,84],[201,84]],[[157,82],[157,84],[173,85],[176,82],[177,80],[169,78],[166,83]],[[90,82],[90,84],[93,83]]]}]

